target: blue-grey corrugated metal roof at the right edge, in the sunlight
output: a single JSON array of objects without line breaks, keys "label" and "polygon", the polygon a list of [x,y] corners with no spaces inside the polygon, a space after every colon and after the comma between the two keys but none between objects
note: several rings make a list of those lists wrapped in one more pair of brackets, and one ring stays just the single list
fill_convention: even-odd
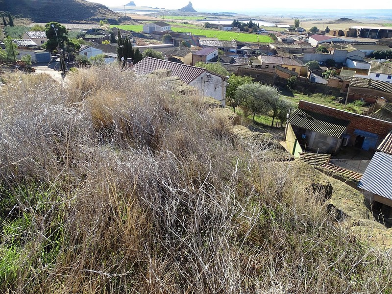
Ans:
[{"label": "blue-grey corrugated metal roof at the right edge, in the sunlight", "polygon": [[376,152],[358,188],[392,199],[392,155]]}]

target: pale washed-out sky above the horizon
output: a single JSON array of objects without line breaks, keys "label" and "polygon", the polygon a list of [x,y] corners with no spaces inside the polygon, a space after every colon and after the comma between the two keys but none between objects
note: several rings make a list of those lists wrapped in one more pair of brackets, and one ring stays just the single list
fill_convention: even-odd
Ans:
[{"label": "pale washed-out sky above the horizon", "polygon": [[[98,2],[106,6],[121,6],[127,4],[128,0],[88,0],[90,2]],[[187,0],[171,0],[171,1],[159,1],[159,0],[134,0],[137,6],[151,6],[167,9],[179,9],[188,4]],[[248,4],[245,4],[248,3]],[[355,3],[355,4],[354,4]],[[341,8],[341,9],[392,9],[391,0],[376,0],[370,2],[365,0],[328,0],[328,1],[317,1],[317,0],[280,0],[280,1],[212,1],[212,0],[194,0],[192,1],[193,7],[197,11],[235,11],[236,8],[239,11],[244,10],[263,10],[263,8],[299,8],[298,5],[306,7],[307,9],[313,8]]]}]

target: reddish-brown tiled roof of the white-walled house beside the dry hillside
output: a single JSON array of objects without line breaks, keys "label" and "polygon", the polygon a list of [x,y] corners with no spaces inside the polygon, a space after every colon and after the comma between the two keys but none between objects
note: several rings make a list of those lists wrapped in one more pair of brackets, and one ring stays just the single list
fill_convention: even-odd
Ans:
[{"label": "reddish-brown tiled roof of the white-walled house beside the dry hillside", "polygon": [[138,75],[152,73],[159,69],[172,70],[172,76],[178,76],[184,83],[187,84],[189,84],[197,76],[205,71],[205,69],[196,66],[190,66],[151,57],[143,58],[141,61],[136,63],[133,68],[135,73]]}]

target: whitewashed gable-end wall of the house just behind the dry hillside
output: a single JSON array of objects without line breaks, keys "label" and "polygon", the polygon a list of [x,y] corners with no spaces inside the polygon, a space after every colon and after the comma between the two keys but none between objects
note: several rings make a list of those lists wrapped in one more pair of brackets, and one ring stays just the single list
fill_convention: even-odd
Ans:
[{"label": "whitewashed gable-end wall of the house just behind the dry hillside", "polygon": [[220,76],[204,72],[189,85],[195,87],[200,94],[213,97],[226,106],[226,82]]}]

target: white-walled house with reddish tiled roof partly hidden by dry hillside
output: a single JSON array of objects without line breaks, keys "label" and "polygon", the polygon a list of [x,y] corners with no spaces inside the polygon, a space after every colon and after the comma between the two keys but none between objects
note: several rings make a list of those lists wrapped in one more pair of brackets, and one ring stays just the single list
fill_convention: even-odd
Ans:
[{"label": "white-walled house with reddish tiled roof partly hidden by dry hillside", "polygon": [[171,76],[179,77],[189,86],[195,87],[201,95],[213,97],[226,105],[226,77],[206,69],[170,62],[151,57],[143,58],[133,67],[137,75],[145,75],[157,70],[170,70]]}]

